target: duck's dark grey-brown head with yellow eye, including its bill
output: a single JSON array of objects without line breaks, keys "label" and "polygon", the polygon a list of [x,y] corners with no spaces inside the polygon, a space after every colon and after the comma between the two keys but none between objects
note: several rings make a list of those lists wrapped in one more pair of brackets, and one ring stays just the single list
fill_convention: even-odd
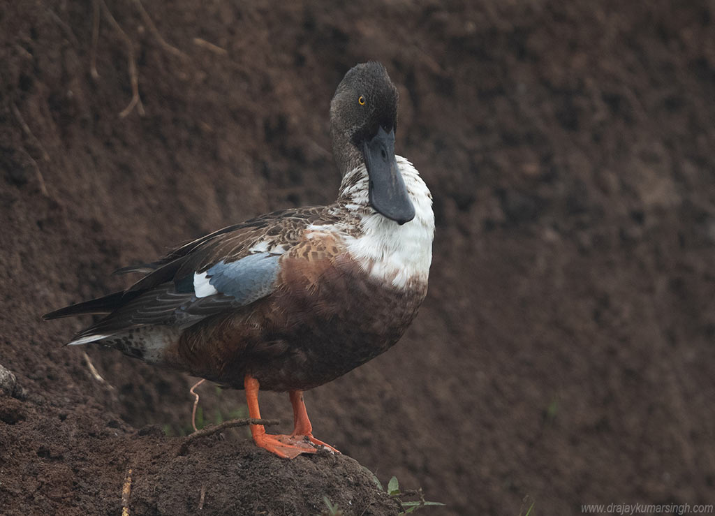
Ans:
[{"label": "duck's dark grey-brown head with yellow eye, including its bill", "polygon": [[415,217],[395,159],[398,90],[385,66],[375,61],[353,66],[330,102],[332,153],[340,172],[368,169],[368,199],[376,212],[398,224]]}]

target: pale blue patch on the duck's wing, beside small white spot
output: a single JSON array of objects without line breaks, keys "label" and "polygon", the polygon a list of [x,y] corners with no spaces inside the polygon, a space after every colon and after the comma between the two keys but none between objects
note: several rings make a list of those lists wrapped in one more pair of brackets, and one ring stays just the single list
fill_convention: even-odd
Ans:
[{"label": "pale blue patch on the duck's wing, beside small white spot", "polygon": [[206,271],[206,277],[217,292],[233,297],[242,305],[250,304],[275,289],[279,259],[280,255],[261,252],[235,262],[222,260]]}]

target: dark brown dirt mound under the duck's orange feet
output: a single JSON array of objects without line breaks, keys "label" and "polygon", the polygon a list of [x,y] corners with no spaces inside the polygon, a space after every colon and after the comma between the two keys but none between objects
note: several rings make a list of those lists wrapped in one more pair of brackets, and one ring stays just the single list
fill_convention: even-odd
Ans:
[{"label": "dark brown dirt mound under the duck's orange feet", "polygon": [[135,431],[86,408],[0,398],[3,514],[108,515],[125,503],[135,515],[320,514],[324,497],[355,514],[400,508],[345,455],[282,461],[245,435],[184,446],[158,426]]}]

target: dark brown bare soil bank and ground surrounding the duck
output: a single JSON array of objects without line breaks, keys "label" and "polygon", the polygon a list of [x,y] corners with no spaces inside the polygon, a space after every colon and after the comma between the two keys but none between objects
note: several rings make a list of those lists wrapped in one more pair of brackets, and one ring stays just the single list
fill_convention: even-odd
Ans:
[{"label": "dark brown bare soil bank and ground surrounding the duck", "polygon": [[[119,515],[132,468],[132,515],[195,514],[202,490],[202,514],[395,514],[348,457],[435,515],[715,502],[712,2],[145,1],[185,57],[107,3],[144,116],[118,116],[107,16],[89,73],[92,2],[0,9],[1,513]],[[400,85],[398,151],[435,198],[428,299],[393,350],[307,393],[345,455],[281,461],[245,429],[182,452],[195,379],[90,348],[99,381],[61,346],[86,321],[39,314],[330,202],[327,106],[366,59]],[[207,420],[242,407],[199,391]],[[290,430],[285,398],[262,411]]]}]

